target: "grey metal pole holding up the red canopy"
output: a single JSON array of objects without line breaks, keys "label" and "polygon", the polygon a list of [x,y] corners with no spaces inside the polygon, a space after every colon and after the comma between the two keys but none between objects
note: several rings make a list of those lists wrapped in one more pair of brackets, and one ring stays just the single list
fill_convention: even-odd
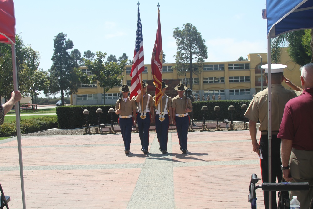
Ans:
[{"label": "grey metal pole holding up the red canopy", "polygon": [[[12,67],[13,67],[13,86],[14,91],[18,91],[18,79],[17,79],[17,67],[16,67],[16,54],[15,54],[15,44],[11,44],[12,50]],[[16,118],[16,134],[18,141],[18,158],[20,166],[20,175],[21,175],[21,188],[22,188],[22,201],[23,209],[26,209],[25,203],[25,189],[24,189],[24,174],[23,174],[23,159],[22,159],[22,142],[21,142],[21,125],[20,125],[20,109],[18,102],[15,103],[15,118]]]}]

